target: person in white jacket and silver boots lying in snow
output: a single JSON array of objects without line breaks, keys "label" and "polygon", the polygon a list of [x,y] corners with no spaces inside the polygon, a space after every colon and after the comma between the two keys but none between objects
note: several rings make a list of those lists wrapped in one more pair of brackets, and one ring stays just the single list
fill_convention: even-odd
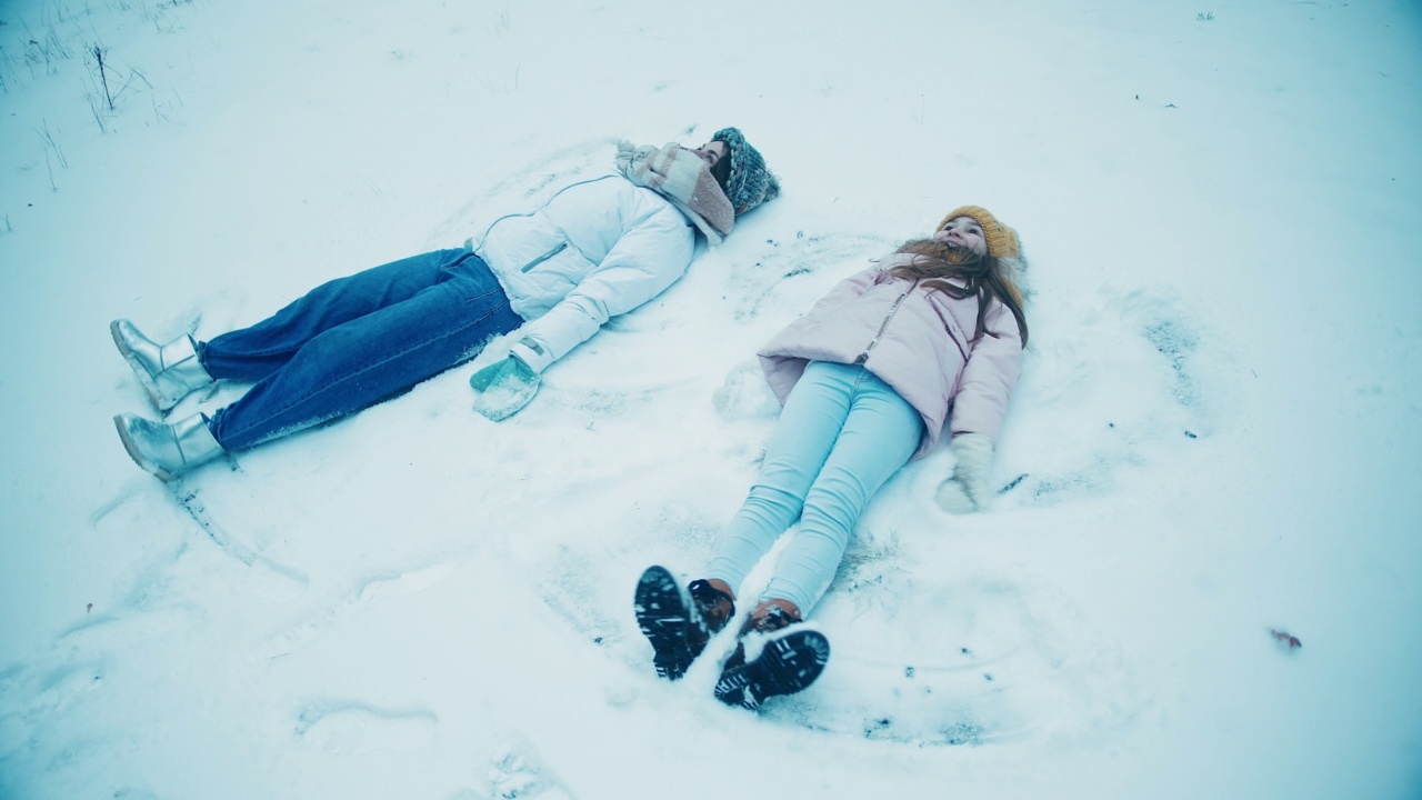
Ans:
[{"label": "person in white jacket and silver boots lying in snow", "polygon": [[700,149],[619,145],[616,171],[495,219],[464,249],[437,251],[317,286],[274,316],[208,342],[158,344],[131,322],[114,343],[166,414],[213,380],[252,381],[210,417],[114,424],[139,467],[168,481],[223,456],[401,394],[522,330],[479,370],[475,410],[502,420],[539,374],[609,317],[656,298],[691,265],[695,232],[718,245],[735,218],[779,194],[737,128]]}]

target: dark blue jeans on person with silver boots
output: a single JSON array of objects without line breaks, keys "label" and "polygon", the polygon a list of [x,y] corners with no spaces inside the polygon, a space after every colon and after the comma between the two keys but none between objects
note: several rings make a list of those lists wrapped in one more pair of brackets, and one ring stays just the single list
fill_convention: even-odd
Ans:
[{"label": "dark blue jeans on person with silver boots", "polygon": [[255,381],[209,427],[225,450],[243,450],[353,414],[472,359],[520,325],[489,266],[466,251],[338,278],[198,346],[212,377]]}]

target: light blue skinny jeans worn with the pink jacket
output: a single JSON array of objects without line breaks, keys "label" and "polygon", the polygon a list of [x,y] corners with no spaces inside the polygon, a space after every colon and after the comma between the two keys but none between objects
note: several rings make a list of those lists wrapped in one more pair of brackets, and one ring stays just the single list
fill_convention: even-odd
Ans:
[{"label": "light blue skinny jeans worn with the pink jacket", "polygon": [[808,615],[833,581],[869,498],[909,463],[921,437],[919,411],[869,370],[812,362],[785,400],[761,477],[721,535],[705,577],[738,591],[799,518],[799,534],[761,599],[786,599]]}]

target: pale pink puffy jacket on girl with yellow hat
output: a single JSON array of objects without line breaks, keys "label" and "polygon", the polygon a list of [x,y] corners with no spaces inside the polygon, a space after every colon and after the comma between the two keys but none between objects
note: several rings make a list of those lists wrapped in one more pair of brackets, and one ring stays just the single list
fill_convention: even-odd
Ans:
[{"label": "pale pink puffy jacket on girl with yellow hat", "polygon": [[789,327],[761,349],[765,377],[781,403],[809,362],[865,364],[923,416],[924,434],[914,458],[926,456],[943,436],[953,413],[953,436],[980,433],[997,441],[1007,401],[1022,372],[1022,339],[1012,312],[990,300],[987,330],[977,330],[977,298],[956,300],[892,276],[907,253],[835,286]]}]

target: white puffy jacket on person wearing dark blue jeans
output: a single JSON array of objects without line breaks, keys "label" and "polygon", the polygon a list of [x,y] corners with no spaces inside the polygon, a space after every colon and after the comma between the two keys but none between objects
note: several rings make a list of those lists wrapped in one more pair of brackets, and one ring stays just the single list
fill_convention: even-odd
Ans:
[{"label": "white puffy jacket on person wearing dark blue jeans", "polygon": [[695,233],[670,201],[621,175],[565,186],[528,214],[495,219],[465,246],[489,265],[513,310],[529,320],[520,357],[535,372],[567,354],[609,319],[677,282]]}]

